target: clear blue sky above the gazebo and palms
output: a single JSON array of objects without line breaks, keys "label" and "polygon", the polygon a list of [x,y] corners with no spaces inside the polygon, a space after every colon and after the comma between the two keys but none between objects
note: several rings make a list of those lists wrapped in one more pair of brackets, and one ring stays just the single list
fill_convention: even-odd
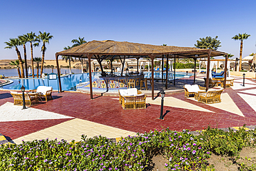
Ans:
[{"label": "clear blue sky above the gazebo and palms", "polygon": [[[3,1],[0,6],[0,60],[17,59],[15,49],[4,49],[12,37],[39,30],[53,35],[46,44],[46,60],[71,39],[136,42],[193,47],[200,37],[219,36],[219,51],[239,57],[238,33],[244,41],[243,57],[256,53],[256,1]],[[42,46],[42,44],[41,44]],[[30,47],[27,44],[28,59]],[[23,48],[19,46],[23,55]],[[35,57],[41,57],[35,48]]]}]

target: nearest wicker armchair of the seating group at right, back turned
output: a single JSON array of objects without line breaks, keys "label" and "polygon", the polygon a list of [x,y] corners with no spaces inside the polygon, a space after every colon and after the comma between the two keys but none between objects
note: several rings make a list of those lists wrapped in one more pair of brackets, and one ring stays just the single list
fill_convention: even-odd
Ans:
[{"label": "nearest wicker armchair of the seating group at right, back turned", "polygon": [[198,101],[203,102],[205,104],[221,102],[222,91],[223,91],[223,89],[207,91],[205,93],[199,93]]}]

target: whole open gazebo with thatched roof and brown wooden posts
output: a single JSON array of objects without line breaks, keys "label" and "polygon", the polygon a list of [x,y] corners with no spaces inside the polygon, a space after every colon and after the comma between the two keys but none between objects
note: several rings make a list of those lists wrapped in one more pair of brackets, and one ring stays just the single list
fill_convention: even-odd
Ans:
[{"label": "whole open gazebo with thatched roof and brown wooden posts", "polygon": [[[66,55],[72,57],[88,58],[89,60],[89,78],[90,78],[90,93],[91,99],[93,98],[92,85],[91,85],[91,59],[96,59],[98,62],[102,60],[114,60],[114,59],[125,59],[125,58],[140,58],[149,57],[152,61],[152,99],[154,99],[154,58],[174,58],[174,69],[176,58],[193,58],[194,64],[196,58],[208,58],[208,71],[210,69],[210,57],[215,56],[226,56],[228,54],[220,51],[214,51],[212,49],[201,49],[201,48],[190,48],[190,47],[178,47],[178,46],[156,46],[151,44],[138,44],[131,42],[116,42],[112,40],[87,42],[80,46],[75,46],[66,51],[61,51],[55,54],[57,71],[59,76],[60,91],[62,91],[60,82],[60,70],[58,64],[58,56]],[[227,62],[227,61],[226,61]],[[167,66],[168,67],[168,66]],[[168,69],[167,69],[168,70]],[[195,69],[194,69],[195,74]],[[195,77],[194,77],[195,78]],[[174,79],[175,80],[175,79]],[[225,80],[226,80],[226,69],[225,69]],[[226,82],[226,81],[225,81]],[[166,80],[167,84],[167,80]],[[209,85],[209,72],[207,72],[206,88]],[[224,85],[225,87],[225,85]]]}]

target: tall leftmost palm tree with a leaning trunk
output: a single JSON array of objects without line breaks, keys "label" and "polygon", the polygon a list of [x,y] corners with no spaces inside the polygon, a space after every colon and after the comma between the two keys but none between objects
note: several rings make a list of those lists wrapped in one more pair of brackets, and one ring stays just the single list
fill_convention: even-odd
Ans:
[{"label": "tall leftmost palm tree with a leaning trunk", "polygon": [[19,52],[19,49],[18,49],[18,46],[21,45],[21,42],[17,38],[10,38],[9,42],[4,42],[4,43],[7,45],[5,48],[13,48],[13,47],[15,47],[15,50],[17,52],[18,59],[19,59],[19,67],[21,69],[21,78],[24,78],[23,62],[22,62],[22,59],[21,59],[21,53]]}]

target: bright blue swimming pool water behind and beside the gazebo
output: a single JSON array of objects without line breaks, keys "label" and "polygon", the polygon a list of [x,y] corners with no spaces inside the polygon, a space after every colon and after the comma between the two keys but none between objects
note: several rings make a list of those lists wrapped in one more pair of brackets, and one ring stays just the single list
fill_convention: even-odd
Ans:
[{"label": "bright blue swimming pool water behind and beside the gazebo", "polygon": [[[151,77],[151,72],[144,72],[145,78]],[[92,80],[95,76],[99,75],[98,72],[91,73]],[[183,78],[186,73],[176,73],[176,78]],[[189,74],[191,75],[191,74]],[[165,78],[166,74],[164,73],[163,78]],[[173,73],[168,73],[169,80],[174,79]],[[154,73],[154,78],[161,78],[161,73]],[[76,84],[80,83],[80,80],[82,82],[89,82],[89,73],[77,73],[77,74],[71,74],[65,77],[61,78],[62,82],[62,90],[68,91],[68,90],[74,90],[74,87]],[[40,85],[43,86],[51,86],[53,87],[53,90],[58,90],[58,82],[57,80],[48,80],[47,78],[24,78],[24,79],[12,79],[12,83],[3,86],[3,89],[21,89],[21,86],[24,85],[25,89],[37,89]]]}]

